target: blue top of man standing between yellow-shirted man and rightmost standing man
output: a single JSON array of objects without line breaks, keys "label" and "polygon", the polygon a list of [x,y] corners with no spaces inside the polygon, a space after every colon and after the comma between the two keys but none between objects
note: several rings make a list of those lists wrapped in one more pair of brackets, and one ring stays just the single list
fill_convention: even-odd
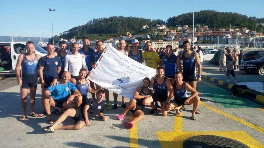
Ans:
[{"label": "blue top of man standing between yellow-shirted man and rightmost standing man", "polygon": [[167,55],[162,57],[164,68],[165,68],[165,76],[174,77],[174,74],[177,70],[177,56],[172,54],[170,57]]}]

